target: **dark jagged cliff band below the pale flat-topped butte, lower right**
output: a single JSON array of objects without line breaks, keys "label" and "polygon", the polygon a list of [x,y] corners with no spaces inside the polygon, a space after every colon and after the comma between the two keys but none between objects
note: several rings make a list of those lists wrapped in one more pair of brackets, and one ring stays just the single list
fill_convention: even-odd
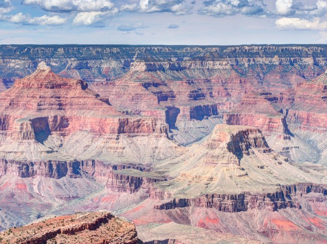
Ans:
[{"label": "dark jagged cliff band below the pale flat-topped butte, lower right", "polygon": [[[272,193],[208,194],[197,198],[173,198],[155,205],[155,209],[167,210],[185,207],[215,208],[223,212],[240,212],[252,209],[276,211],[284,208],[301,208],[296,196],[310,192],[327,195],[327,187],[311,183],[284,185]],[[154,195],[153,195],[154,196]]]}]

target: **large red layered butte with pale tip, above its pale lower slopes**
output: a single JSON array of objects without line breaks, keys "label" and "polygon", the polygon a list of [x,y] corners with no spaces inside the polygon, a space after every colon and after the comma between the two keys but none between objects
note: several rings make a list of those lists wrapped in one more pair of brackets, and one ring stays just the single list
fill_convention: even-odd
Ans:
[{"label": "large red layered butte with pale tip, above its pale lower slopes", "polygon": [[107,99],[88,90],[85,81],[60,77],[44,63],[0,95],[0,129],[14,131],[17,140],[78,130],[100,135],[167,131],[157,118],[122,115]]}]

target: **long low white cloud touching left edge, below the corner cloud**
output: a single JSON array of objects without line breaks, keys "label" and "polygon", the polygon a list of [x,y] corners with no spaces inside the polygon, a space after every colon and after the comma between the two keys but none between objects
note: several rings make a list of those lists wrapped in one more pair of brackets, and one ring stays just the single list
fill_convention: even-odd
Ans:
[{"label": "long low white cloud touching left edge, below the corner cloud", "polygon": [[66,18],[60,16],[47,16],[43,15],[40,17],[30,17],[23,13],[17,13],[14,15],[2,15],[0,20],[8,21],[15,24],[21,25],[34,25],[34,26],[58,26],[66,23]]}]

